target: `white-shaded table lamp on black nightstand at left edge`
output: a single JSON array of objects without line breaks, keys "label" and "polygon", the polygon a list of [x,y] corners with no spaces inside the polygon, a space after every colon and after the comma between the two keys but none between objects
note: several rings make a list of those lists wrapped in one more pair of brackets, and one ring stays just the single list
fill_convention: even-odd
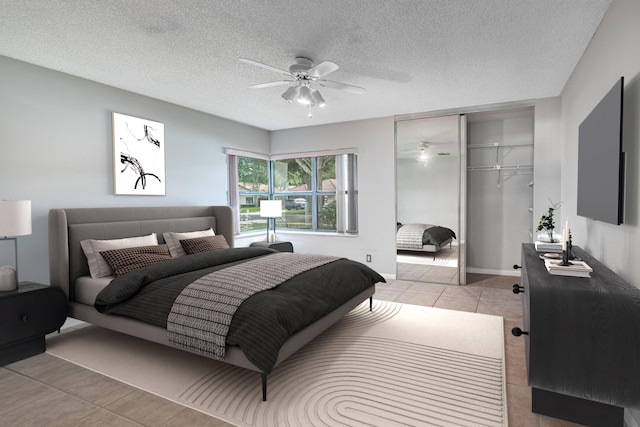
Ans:
[{"label": "white-shaded table lamp on black nightstand at left edge", "polygon": [[13,240],[16,267],[0,267],[0,291],[18,284],[18,239],[31,234],[31,200],[0,200],[0,240]]}]

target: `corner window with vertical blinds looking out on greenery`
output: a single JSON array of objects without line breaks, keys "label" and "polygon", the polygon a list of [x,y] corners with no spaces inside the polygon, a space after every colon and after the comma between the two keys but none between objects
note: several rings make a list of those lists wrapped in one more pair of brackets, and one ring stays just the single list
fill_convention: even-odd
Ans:
[{"label": "corner window with vertical blinds looking out on greenery", "polygon": [[278,230],[357,234],[354,152],[279,155],[275,159],[253,157],[252,153],[235,155],[233,150],[227,154],[232,186],[229,203],[233,206],[234,197],[237,200],[239,232],[266,229],[267,219],[260,217],[260,200],[270,199],[282,201],[282,217],[276,219]]}]

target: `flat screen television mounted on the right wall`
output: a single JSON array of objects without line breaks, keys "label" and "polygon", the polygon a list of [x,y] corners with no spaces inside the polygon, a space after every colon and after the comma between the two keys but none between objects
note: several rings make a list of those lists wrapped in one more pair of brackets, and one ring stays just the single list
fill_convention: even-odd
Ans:
[{"label": "flat screen television mounted on the right wall", "polygon": [[620,77],[578,131],[577,213],[616,225],[624,215],[623,93]]}]

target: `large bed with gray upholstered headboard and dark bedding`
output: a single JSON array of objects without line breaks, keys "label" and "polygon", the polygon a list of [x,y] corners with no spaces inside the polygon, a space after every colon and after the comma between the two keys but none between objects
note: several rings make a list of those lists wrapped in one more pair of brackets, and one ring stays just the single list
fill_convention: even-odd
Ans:
[{"label": "large bed with gray upholstered headboard and dark bedding", "polygon": [[[229,248],[167,259],[116,278],[91,277],[95,265],[91,266],[90,271],[87,255],[81,245],[81,242],[86,243],[92,239],[103,242],[153,233],[162,245],[169,243],[165,242],[163,233],[188,234],[194,230],[207,229],[211,229],[218,237],[224,236],[223,240],[226,240]],[[180,292],[182,297],[184,291],[179,290],[190,289],[186,284],[187,279],[198,277],[201,271],[215,273],[217,275],[214,277],[217,278],[220,275],[224,276],[225,272],[239,272],[239,269],[245,271],[245,266],[247,269],[255,269],[257,267],[254,264],[272,259],[268,257],[276,259],[285,256],[269,248],[234,248],[233,229],[233,215],[228,206],[52,209],[49,212],[51,286],[59,287],[66,293],[69,299],[69,316],[72,318],[163,345],[178,346],[185,351],[204,354],[212,359],[220,359],[219,355],[203,353],[202,348],[176,344],[175,336],[172,337],[171,331],[168,332],[167,329],[174,323],[172,319],[175,318],[175,313],[171,311],[168,318],[166,314],[167,307],[172,304],[163,300],[156,306],[155,300],[160,297],[151,295],[151,292],[162,290],[160,293],[174,296]],[[200,243],[202,238],[191,240]],[[233,315],[226,341],[222,344],[223,362],[259,372],[262,376],[263,400],[267,398],[267,376],[275,366],[367,299],[371,309],[375,283],[384,282],[375,271],[355,261],[343,258],[322,262],[325,264],[297,272],[272,289],[249,296],[237,307]],[[192,271],[194,269],[198,270],[197,274]],[[231,276],[235,275],[236,273]],[[348,282],[359,284],[355,288],[343,291],[342,288]],[[115,290],[112,290],[114,286]],[[301,292],[300,286],[308,288]],[[328,292],[330,295],[323,294]],[[114,295],[119,300],[111,304],[114,302]],[[151,298],[154,305],[143,298]],[[294,302],[289,302],[289,299]],[[313,314],[304,319],[291,320],[290,324],[284,326],[275,325],[277,332],[274,333],[252,332],[251,329],[256,324],[268,325],[269,321],[274,321],[271,317],[281,317],[277,313],[264,311],[268,309],[265,307],[272,305],[279,307],[280,302],[272,304],[272,301],[286,301],[286,304],[292,306],[287,307],[287,310]],[[304,306],[299,306],[302,301]],[[294,307],[293,304],[298,306]],[[258,318],[257,314],[265,315],[268,319]],[[285,332],[281,329],[285,329]],[[271,335],[275,336],[274,342],[261,341],[265,336]],[[269,351],[271,353],[266,354]],[[260,353],[266,354],[264,358]]]}]

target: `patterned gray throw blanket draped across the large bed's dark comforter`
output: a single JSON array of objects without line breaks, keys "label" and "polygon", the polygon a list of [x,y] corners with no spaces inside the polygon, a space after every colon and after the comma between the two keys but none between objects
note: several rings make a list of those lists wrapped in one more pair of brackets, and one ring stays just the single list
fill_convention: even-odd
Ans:
[{"label": "patterned gray throw blanket draped across the large bed's dark comforter", "polygon": [[185,287],[173,303],[167,319],[168,340],[222,360],[231,319],[244,300],[338,259],[282,252],[207,274]]}]

